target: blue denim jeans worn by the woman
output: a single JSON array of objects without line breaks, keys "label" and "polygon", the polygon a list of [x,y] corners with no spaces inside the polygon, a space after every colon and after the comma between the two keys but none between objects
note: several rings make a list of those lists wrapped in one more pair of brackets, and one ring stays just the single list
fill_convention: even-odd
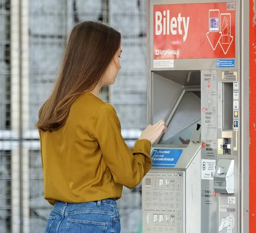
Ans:
[{"label": "blue denim jeans worn by the woman", "polygon": [[115,199],[69,204],[57,201],[48,218],[45,233],[120,233]]}]

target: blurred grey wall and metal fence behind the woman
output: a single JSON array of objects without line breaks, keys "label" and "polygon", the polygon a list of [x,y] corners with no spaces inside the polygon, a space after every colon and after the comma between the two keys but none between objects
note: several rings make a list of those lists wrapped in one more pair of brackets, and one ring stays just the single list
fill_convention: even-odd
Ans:
[{"label": "blurred grey wall and metal fence behind the woman", "polygon": [[[121,72],[101,98],[115,107],[132,147],[146,127],[146,0],[0,0],[0,233],[44,232],[38,110],[49,96],[66,39],[84,20],[122,33]],[[139,232],[141,186],[118,201],[122,233]]]}]

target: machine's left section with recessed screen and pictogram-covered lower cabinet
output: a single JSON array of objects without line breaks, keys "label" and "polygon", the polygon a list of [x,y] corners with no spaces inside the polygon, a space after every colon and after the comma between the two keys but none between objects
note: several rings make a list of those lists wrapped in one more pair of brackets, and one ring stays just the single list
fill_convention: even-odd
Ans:
[{"label": "machine's left section with recessed screen and pictogram-covered lower cabinet", "polygon": [[165,119],[167,130],[152,146],[152,168],[142,183],[143,233],[198,232],[201,71],[162,70],[151,74],[152,123]]}]

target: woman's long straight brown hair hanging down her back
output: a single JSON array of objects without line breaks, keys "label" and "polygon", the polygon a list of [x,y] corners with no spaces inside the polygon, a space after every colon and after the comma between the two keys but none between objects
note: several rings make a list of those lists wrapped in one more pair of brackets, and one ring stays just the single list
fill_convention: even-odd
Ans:
[{"label": "woman's long straight brown hair hanging down her back", "polygon": [[120,43],[121,34],[102,22],[85,21],[72,29],[53,92],[39,111],[37,129],[52,132],[65,124],[71,105],[96,87]]}]

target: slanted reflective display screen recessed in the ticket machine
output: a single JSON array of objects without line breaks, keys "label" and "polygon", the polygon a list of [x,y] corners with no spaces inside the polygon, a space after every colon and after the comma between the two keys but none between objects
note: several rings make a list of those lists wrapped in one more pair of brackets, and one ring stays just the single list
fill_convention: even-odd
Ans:
[{"label": "slanted reflective display screen recessed in the ticket machine", "polygon": [[158,144],[182,145],[190,142],[195,124],[201,122],[200,91],[187,91],[182,97],[166,133]]}]

